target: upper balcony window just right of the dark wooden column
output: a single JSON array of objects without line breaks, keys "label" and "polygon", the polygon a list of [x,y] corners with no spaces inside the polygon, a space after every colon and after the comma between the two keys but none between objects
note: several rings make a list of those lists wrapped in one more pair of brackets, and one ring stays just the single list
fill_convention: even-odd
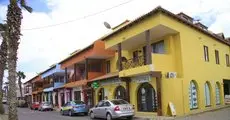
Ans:
[{"label": "upper balcony window just right of the dark wooden column", "polygon": [[165,53],[164,48],[165,47],[164,47],[163,40],[152,44],[153,53],[164,54]]}]

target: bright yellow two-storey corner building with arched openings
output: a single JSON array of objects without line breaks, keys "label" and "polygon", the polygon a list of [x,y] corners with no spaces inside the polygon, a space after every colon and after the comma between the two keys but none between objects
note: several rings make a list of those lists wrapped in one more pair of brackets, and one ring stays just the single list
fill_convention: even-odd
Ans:
[{"label": "bright yellow two-storey corner building with arched openings", "polygon": [[92,80],[100,80],[96,103],[124,98],[137,114],[164,116],[172,114],[169,103],[178,116],[224,105],[230,41],[191,17],[157,7],[102,40],[117,52],[107,74]]}]

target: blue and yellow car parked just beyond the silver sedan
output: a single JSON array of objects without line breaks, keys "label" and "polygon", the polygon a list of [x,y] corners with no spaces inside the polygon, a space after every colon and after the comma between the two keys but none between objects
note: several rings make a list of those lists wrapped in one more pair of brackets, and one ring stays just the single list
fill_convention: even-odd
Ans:
[{"label": "blue and yellow car parked just beyond the silver sedan", "polygon": [[61,115],[73,116],[74,114],[83,113],[87,115],[89,111],[88,106],[83,101],[70,101],[67,102],[64,106],[61,107]]}]

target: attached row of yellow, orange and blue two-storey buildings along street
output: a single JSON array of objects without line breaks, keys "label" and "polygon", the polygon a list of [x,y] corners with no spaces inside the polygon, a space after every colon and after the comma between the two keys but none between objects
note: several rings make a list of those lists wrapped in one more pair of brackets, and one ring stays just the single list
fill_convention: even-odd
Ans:
[{"label": "attached row of yellow, orange and blue two-storey buildings along street", "polygon": [[55,72],[44,72],[45,84],[33,78],[33,100],[41,99],[39,88],[47,85],[42,91],[53,87],[59,106],[71,100],[93,106],[103,99],[125,99],[137,114],[171,116],[175,109],[182,116],[216,109],[230,94],[229,48],[223,34],[184,13],[157,7],[62,60],[62,85],[55,87],[49,77]]}]

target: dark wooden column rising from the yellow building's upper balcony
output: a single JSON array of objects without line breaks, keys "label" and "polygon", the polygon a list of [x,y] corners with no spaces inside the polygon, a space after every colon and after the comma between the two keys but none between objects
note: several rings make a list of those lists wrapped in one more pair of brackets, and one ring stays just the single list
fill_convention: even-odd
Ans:
[{"label": "dark wooden column rising from the yellow building's upper balcony", "polygon": [[152,49],[150,43],[150,30],[145,32],[145,39],[146,39],[146,64],[152,64]]}]

